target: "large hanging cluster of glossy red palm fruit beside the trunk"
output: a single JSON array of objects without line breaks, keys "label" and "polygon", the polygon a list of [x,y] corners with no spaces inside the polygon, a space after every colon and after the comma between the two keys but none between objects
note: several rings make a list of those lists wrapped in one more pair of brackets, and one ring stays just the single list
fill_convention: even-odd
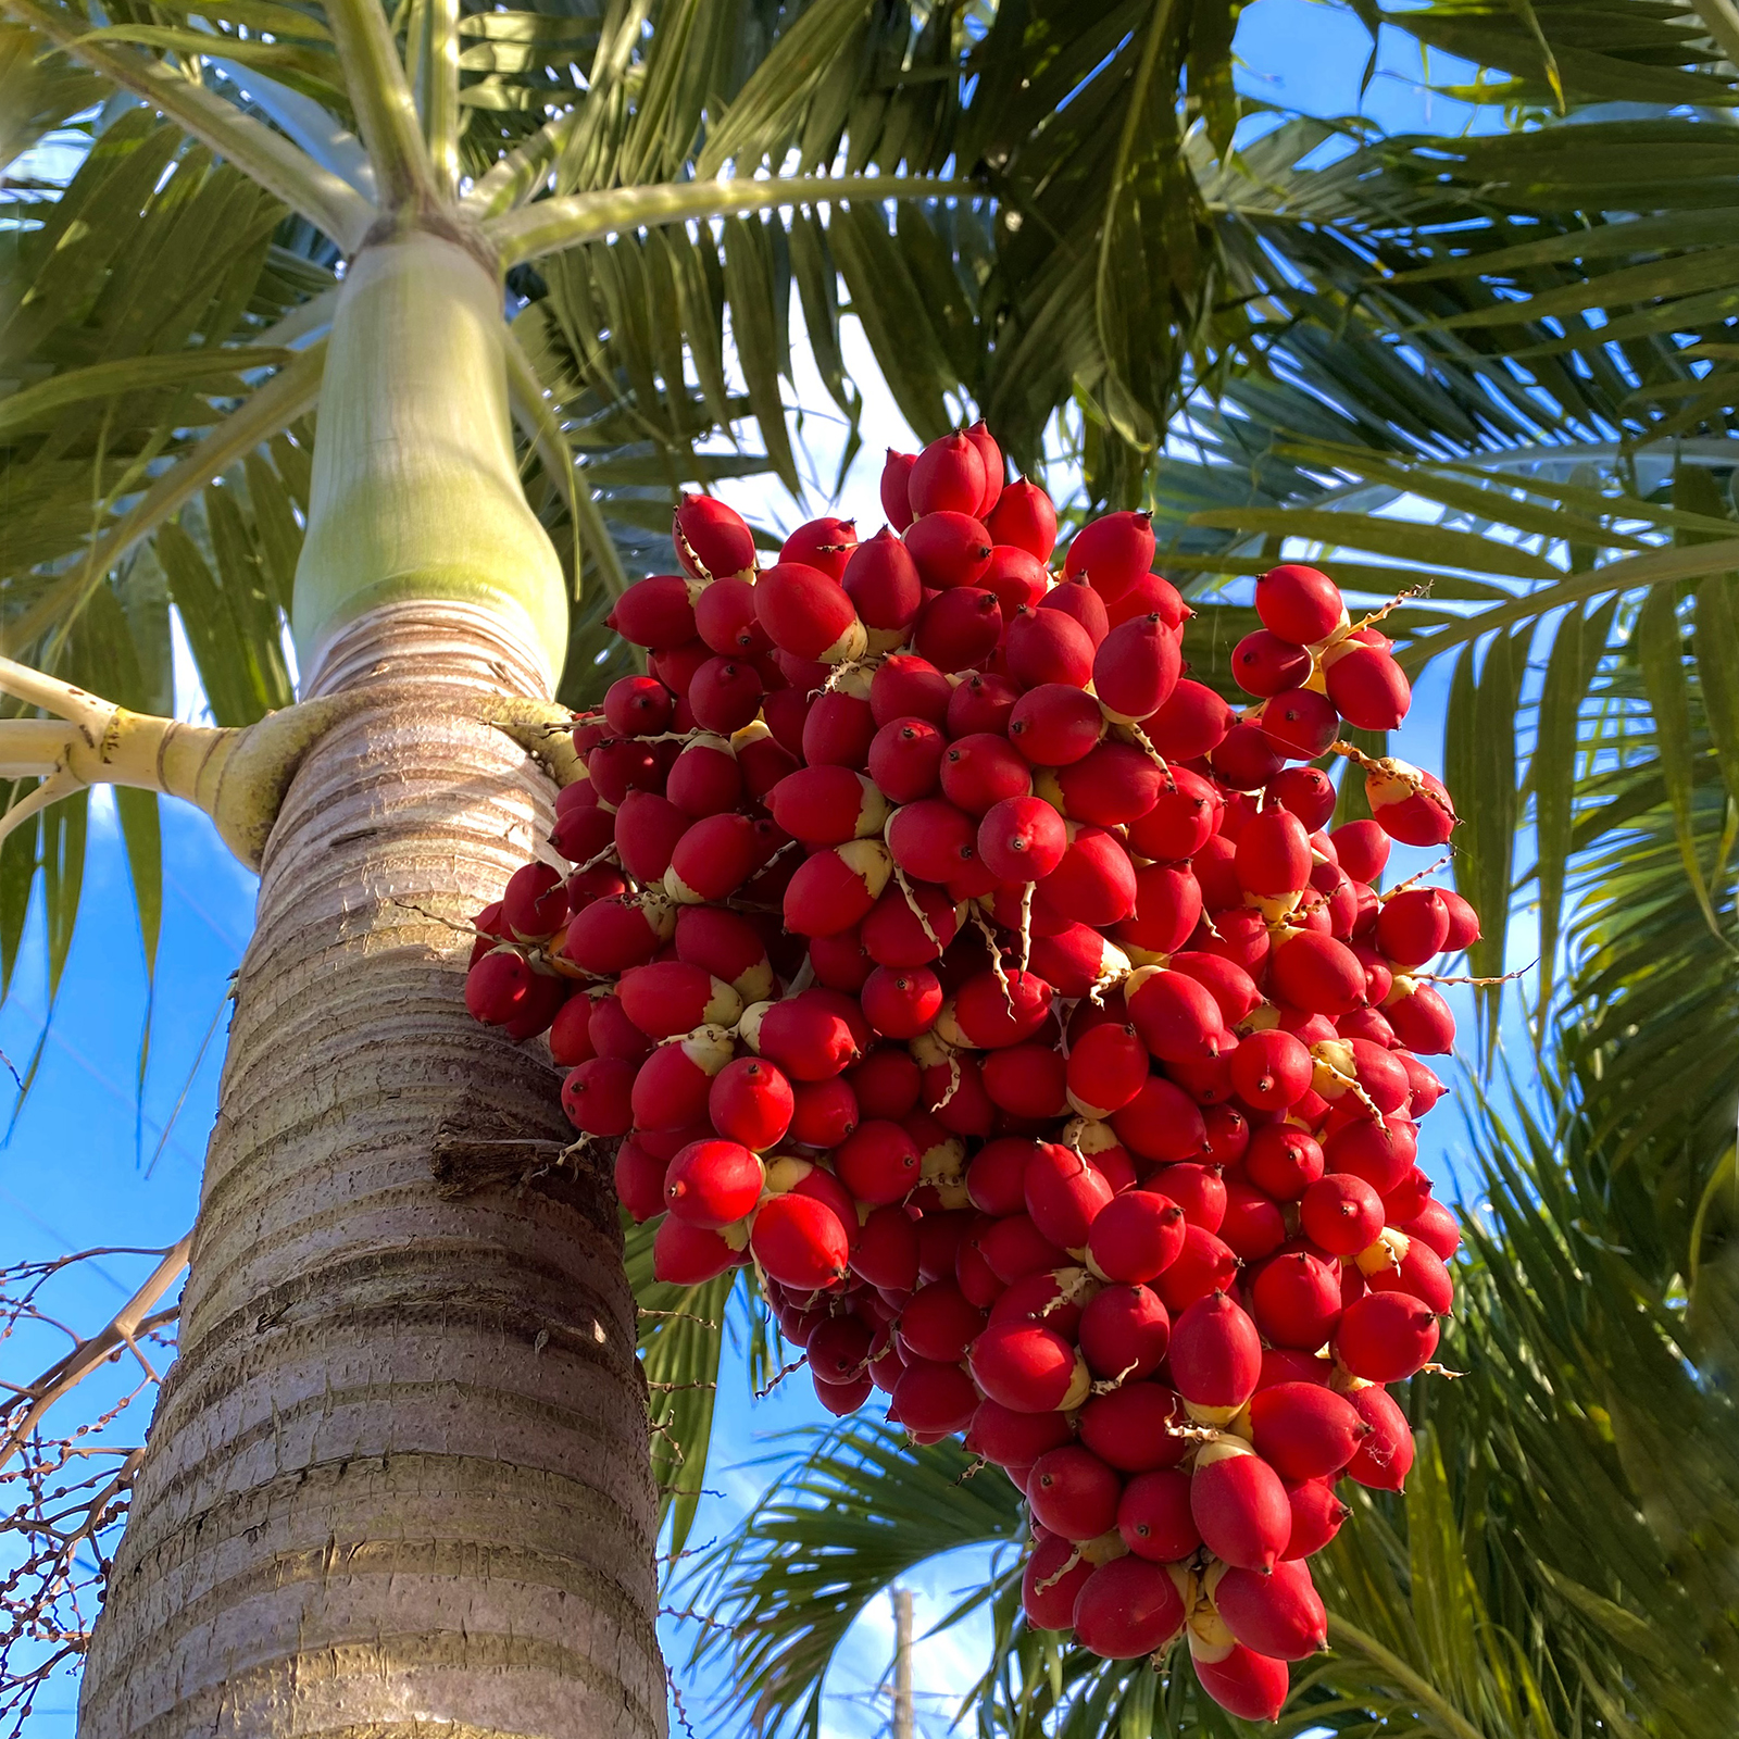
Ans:
[{"label": "large hanging cluster of glossy red palm fruit beside the trunk", "polygon": [[466,995],[550,1029],[619,1141],[661,1278],[753,1263],[835,1414],[889,1395],[1026,1496],[1033,1624],[1132,1659],[1188,1635],[1271,1718],[1323,1645],[1304,1560],[1332,1482],[1400,1489],[1383,1384],[1450,1308],[1454,1217],[1414,1163],[1454,1026],[1442,784],[1365,762],[1322,831],[1308,765],[1398,725],[1389,643],[1278,567],[1235,716],[1181,675],[1189,610],[1113,513],[1056,515],[983,426],[890,456],[890,527],[748,527],[687,497],[683,574],[610,621],[650,649],[576,727],[555,854],[510,882]]}]

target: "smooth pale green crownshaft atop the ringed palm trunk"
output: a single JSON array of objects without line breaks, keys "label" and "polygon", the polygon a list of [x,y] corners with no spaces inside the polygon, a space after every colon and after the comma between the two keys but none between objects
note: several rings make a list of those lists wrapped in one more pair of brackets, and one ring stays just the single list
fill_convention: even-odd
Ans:
[{"label": "smooth pale green crownshaft atop the ringed palm trunk", "polygon": [[501,289],[456,242],[365,247],[332,320],[290,623],[303,671],[365,610],[456,598],[567,652],[567,586],[525,503]]}]

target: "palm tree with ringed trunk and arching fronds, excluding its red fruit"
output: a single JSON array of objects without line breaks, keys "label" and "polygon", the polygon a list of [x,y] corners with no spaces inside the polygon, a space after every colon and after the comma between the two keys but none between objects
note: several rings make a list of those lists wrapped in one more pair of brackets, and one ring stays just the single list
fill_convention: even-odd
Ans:
[{"label": "palm tree with ringed trunk and arching fronds, excluding its red fruit", "polygon": [[[623,668],[636,534],[732,464],[795,487],[793,283],[845,416],[842,280],[920,433],[972,398],[1031,459],[1080,393],[1134,487],[1207,356],[1177,144],[1228,143],[1235,7],[3,12],[9,148],[89,150],[7,190],[0,965],[38,873],[64,962],[90,784],[148,953],[153,793],[261,868],[83,1722],[661,1732],[614,1202],[510,1188],[553,1075],[468,1021],[456,929]],[[163,716],[170,612],[210,727]]]}]

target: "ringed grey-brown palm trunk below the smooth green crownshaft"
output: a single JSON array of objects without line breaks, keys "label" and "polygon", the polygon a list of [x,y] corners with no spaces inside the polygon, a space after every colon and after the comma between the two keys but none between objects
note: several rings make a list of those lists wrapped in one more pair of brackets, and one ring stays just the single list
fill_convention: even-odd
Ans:
[{"label": "ringed grey-brown palm trunk below the smooth green crownshaft", "polygon": [[471,1021],[468,937],[426,915],[476,911],[548,830],[548,783],[480,722],[546,694],[548,657],[487,598],[316,638],[304,697],[367,701],[266,849],[82,1732],[649,1739],[657,1511],[609,1179],[433,1167],[570,1134],[548,1057]]}]

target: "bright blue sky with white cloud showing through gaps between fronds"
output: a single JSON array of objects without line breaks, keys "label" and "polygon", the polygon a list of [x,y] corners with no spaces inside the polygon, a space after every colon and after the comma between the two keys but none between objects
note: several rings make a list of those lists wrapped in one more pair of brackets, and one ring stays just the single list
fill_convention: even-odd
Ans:
[{"label": "bright blue sky with white cloud showing through gaps between fronds", "polygon": [[[1238,49],[1245,57],[1242,83],[1252,96],[1322,115],[1363,113],[1388,127],[1457,130],[1490,125],[1461,104],[1433,99],[1421,89],[1421,68],[1409,43],[1386,33],[1384,54],[1360,103],[1360,78],[1369,38],[1351,14],[1308,0],[1256,0],[1243,14]],[[1440,78],[1456,80],[1464,70],[1433,66]],[[852,334],[847,334],[850,339]],[[849,344],[849,360],[863,362],[861,343]],[[868,416],[864,450],[847,480],[845,501],[864,516],[875,511],[875,478],[883,447],[911,447],[915,440],[887,393],[864,370]],[[807,355],[800,353],[798,396],[824,403],[824,393]],[[805,424],[814,450],[812,475],[831,478],[836,464],[836,426],[824,419]],[[830,452],[830,442],[833,450]],[[819,510],[819,497],[802,508],[783,492],[756,485],[729,494],[767,523],[791,525]],[[1435,758],[1442,696],[1431,685],[1419,696],[1412,729],[1414,758]],[[1403,744],[1402,753],[1407,753]],[[143,1096],[136,1094],[146,977],[134,922],[125,859],[113,807],[99,793],[90,810],[83,909],[64,983],[49,1026],[35,1089],[0,1148],[0,1259],[47,1261],[94,1245],[162,1247],[191,1223],[198,1179],[210,1129],[223,1059],[224,998],[252,925],[254,878],[219,845],[198,814],[163,805],[165,887],[163,939],[158,955],[151,1019],[151,1056]],[[1412,868],[1412,866],[1410,866]],[[1520,958],[1527,958],[1518,937]],[[33,922],[10,998],[0,1009],[0,1050],[19,1068],[31,1054],[45,1010],[45,960],[40,922]],[[1459,1127],[1445,1104],[1431,1123],[1428,1163],[1450,1183]],[[115,1306],[151,1266],[150,1257],[113,1256],[85,1264],[64,1278],[54,1294],[57,1315],[87,1329],[108,1320]],[[0,1374],[19,1383],[64,1349],[64,1341],[40,1327],[19,1329],[0,1348]],[[85,1391],[108,1398],[129,1388],[136,1374],[111,1367]],[[727,1370],[723,1395],[748,1395],[739,1370]],[[71,1403],[66,1412],[71,1416]],[[734,1529],[765,1489],[767,1436],[793,1424],[819,1419],[809,1384],[796,1377],[769,1402],[723,1403],[715,1433],[710,1499],[696,1527],[696,1541],[722,1537]],[[143,1421],[122,1426],[123,1442],[137,1442]],[[953,1605],[981,1565],[946,1560],[913,1579],[918,1629],[927,1629]],[[689,1638],[670,1626],[668,1643],[683,1683],[697,1730],[723,1734],[710,1713],[716,1682],[692,1682],[682,1671]],[[824,1732],[830,1739],[863,1739],[883,1729],[885,1699],[875,1694],[892,1647],[892,1612],[887,1602],[864,1616],[830,1680]],[[920,1727],[943,1732],[951,1697],[977,1676],[984,1636],[962,1626],[948,1636],[920,1643],[916,1680]],[[73,1685],[50,1687],[38,1702],[31,1739],[61,1739],[73,1732]]]}]

